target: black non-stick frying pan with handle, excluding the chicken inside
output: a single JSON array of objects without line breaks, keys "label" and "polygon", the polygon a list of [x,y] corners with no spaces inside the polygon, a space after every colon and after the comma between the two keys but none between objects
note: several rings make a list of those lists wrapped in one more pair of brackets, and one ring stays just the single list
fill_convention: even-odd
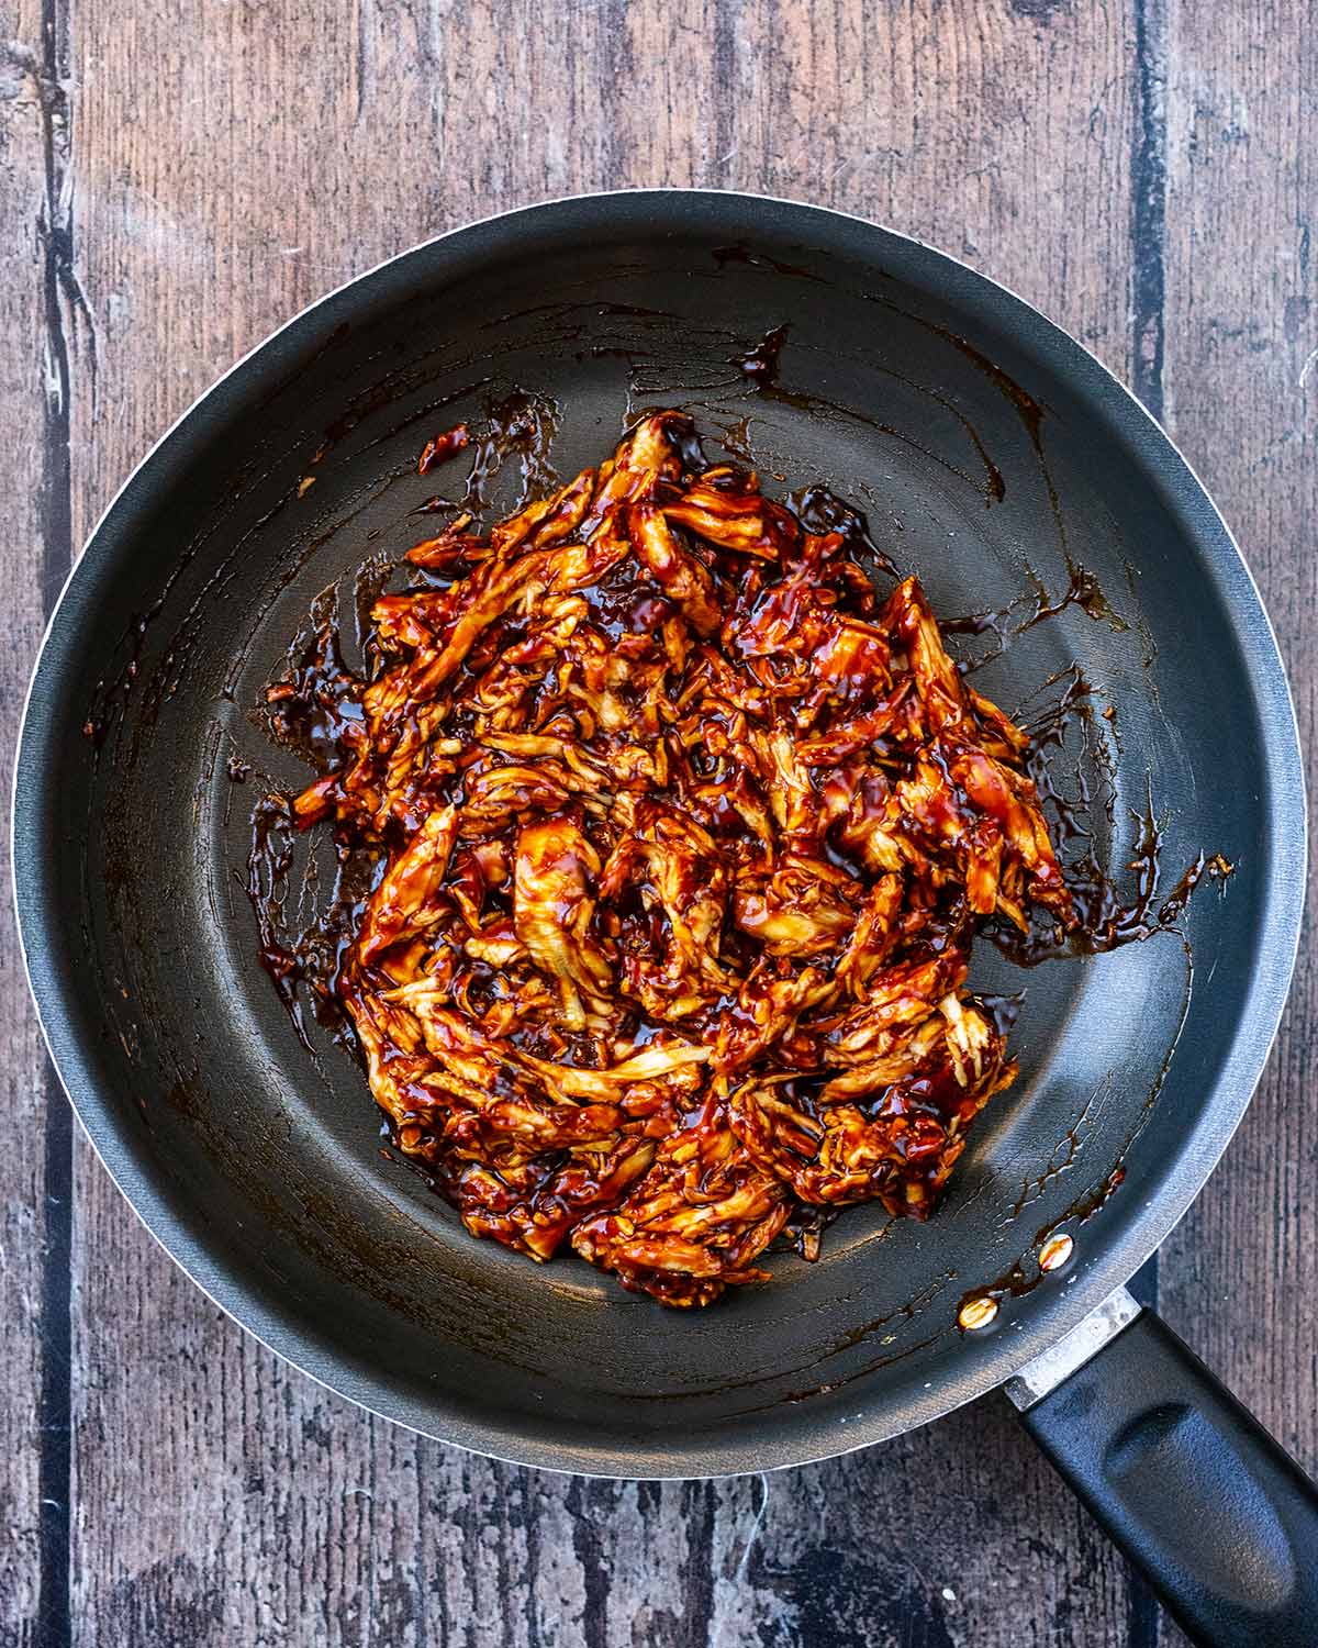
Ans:
[{"label": "black non-stick frying pan with handle, excluding the chicken inside", "polygon": [[[778,358],[756,353],[776,328]],[[931,1223],[850,1210],[816,1264],[784,1252],[705,1312],[466,1236],[259,959],[250,808],[308,776],[255,723],[260,691],[321,590],[351,610],[428,536],[427,499],[461,491],[461,463],[418,478],[425,438],[496,425],[509,396],[563,476],[662,404],[769,489],[824,478],[941,615],[1005,615],[959,641],[990,697],[1028,719],[1082,682],[1066,738],[1096,775],[1096,852],[1127,898],[1155,836],[1166,872],[1142,943],[977,962],[979,987],[1026,990],[1021,1078]],[[509,452],[491,509],[540,463]],[[1234,872],[1180,910],[1201,852]],[[297,873],[290,900],[313,901]],[[1231,1139],[1282,1012],[1305,880],[1287,684],[1194,475],[984,277],[834,213],[656,191],[476,224],[325,298],[175,425],[69,578],[23,723],[15,877],[102,1160],[219,1305],[336,1391],[502,1458],[689,1477],[880,1442],[1010,1381],[1193,1632],[1318,1640],[1311,1485],[1122,1289]],[[1046,1272],[1054,1233],[1074,1256]],[[967,1297],[998,1302],[987,1328],[959,1325]]]}]

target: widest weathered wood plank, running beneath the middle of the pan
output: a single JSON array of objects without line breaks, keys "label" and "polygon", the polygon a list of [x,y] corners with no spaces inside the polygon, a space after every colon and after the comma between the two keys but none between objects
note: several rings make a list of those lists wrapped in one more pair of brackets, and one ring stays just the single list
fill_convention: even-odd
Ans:
[{"label": "widest weathered wood plank, running beneath the middle of the pan", "polygon": [[[96,405],[76,381],[81,526],[214,372],[316,292],[451,222],[578,188],[708,183],[868,213],[1153,382],[1132,354],[1129,272],[1132,153],[1150,130],[1157,142],[1158,114],[1140,119],[1148,53],[1122,8],[638,0],[496,18],[166,0],[79,28],[79,269],[102,353]],[[1274,142],[1293,138],[1287,107],[1270,105]],[[1203,180],[1194,191],[1216,209]],[[1246,244],[1246,224],[1218,227]],[[1140,325],[1157,318],[1155,285]],[[1201,331],[1206,369],[1221,341]],[[1173,394],[1198,381],[1199,356],[1168,356]],[[1275,417],[1269,391],[1252,394]],[[1298,521],[1297,506],[1282,526]],[[1303,598],[1311,610],[1311,583]],[[1280,1160],[1269,1168],[1283,1126],[1297,1124],[1277,1089],[1252,1160],[1298,1196]],[[992,1404],[768,1482],[516,1472],[290,1374],[173,1271],[86,1152],[79,1183],[79,1641],[992,1648],[1109,1643],[1132,1608],[1145,1618],[1124,1566]],[[1257,1180],[1234,1195],[1254,1206]],[[1211,1266],[1178,1249],[1203,1279],[1185,1299],[1191,1337],[1204,1290],[1244,1262],[1227,1261],[1227,1213],[1234,1201]],[[1222,1366],[1241,1355],[1226,1335],[1209,1351]],[[1278,1350],[1255,1371],[1283,1366]],[[1298,1407],[1288,1422],[1298,1435]]]}]

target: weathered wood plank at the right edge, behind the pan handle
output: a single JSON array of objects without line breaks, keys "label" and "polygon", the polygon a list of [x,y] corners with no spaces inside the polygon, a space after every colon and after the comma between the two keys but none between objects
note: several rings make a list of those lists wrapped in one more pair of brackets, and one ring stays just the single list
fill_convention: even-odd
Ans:
[{"label": "weathered wood plank at the right edge, behind the pan handle", "polygon": [[[1171,7],[1168,422],[1259,578],[1318,768],[1318,43],[1277,0]],[[1204,1360],[1318,1470],[1318,903],[1269,1073],[1166,1244],[1165,1304]]]}]

